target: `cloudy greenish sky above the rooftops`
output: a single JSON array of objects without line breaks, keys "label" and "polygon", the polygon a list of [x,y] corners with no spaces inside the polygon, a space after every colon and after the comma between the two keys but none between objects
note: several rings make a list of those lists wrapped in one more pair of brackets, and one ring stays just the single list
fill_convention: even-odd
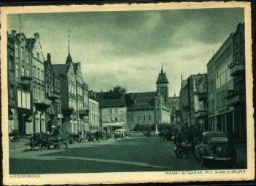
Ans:
[{"label": "cloudy greenish sky above the rooftops", "polygon": [[[44,57],[50,53],[53,64],[66,62],[70,34],[71,57],[81,62],[90,89],[155,91],[163,65],[169,96],[179,95],[181,75],[206,73],[239,22],[244,10],[238,8],[20,15],[21,32],[27,38],[39,33]],[[19,31],[18,15],[8,15],[7,30]]]}]

